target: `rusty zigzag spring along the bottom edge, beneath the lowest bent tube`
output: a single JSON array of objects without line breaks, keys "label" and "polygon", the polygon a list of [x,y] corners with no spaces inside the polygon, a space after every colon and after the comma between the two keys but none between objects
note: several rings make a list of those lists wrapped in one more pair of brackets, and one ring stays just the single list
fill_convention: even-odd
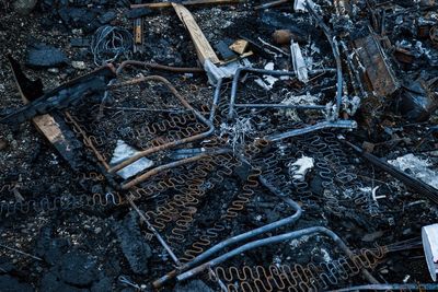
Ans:
[{"label": "rusty zigzag spring along the bottom edge, beneath the lowest bent tube", "polygon": [[351,258],[343,257],[319,265],[231,266],[217,267],[215,272],[228,283],[229,291],[320,291],[357,276],[364,267],[374,268],[387,253],[385,247],[378,247],[376,253],[361,249]]}]

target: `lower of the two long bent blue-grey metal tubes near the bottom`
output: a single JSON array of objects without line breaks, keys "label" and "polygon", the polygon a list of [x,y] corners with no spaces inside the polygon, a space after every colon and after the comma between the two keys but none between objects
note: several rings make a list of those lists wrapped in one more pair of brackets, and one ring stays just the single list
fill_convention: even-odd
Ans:
[{"label": "lower of the two long bent blue-grey metal tubes near the bottom", "polygon": [[[262,247],[262,246],[266,246],[266,245],[273,245],[273,244],[277,244],[277,243],[281,243],[285,241],[290,241],[290,240],[295,240],[295,238],[299,238],[302,236],[310,236],[310,235],[315,235],[315,234],[324,234],[327,237],[330,237],[331,240],[333,240],[335,242],[335,244],[348,256],[348,257],[354,257],[353,252],[348,248],[348,246],[343,242],[343,240],[337,236],[336,233],[334,233],[333,231],[323,227],[323,226],[314,226],[314,227],[308,227],[308,229],[303,229],[303,230],[299,230],[299,231],[293,231],[293,232],[289,232],[289,233],[284,233],[280,235],[275,235],[272,237],[267,237],[267,238],[263,238],[263,240],[257,240],[257,241],[253,241],[250,242],[245,245],[242,245],[235,249],[232,249],[231,252],[228,252],[215,259],[211,259],[194,269],[191,269],[188,271],[183,272],[182,275],[177,276],[176,279],[178,281],[184,281],[187,280],[200,272],[203,272],[204,270],[210,268],[210,267],[215,267],[234,256],[238,256],[244,252],[247,252],[250,249],[254,249],[257,247]],[[361,272],[362,276],[370,282],[370,283],[379,283],[374,277],[372,277],[372,275],[366,270],[364,267],[361,268]]]}]

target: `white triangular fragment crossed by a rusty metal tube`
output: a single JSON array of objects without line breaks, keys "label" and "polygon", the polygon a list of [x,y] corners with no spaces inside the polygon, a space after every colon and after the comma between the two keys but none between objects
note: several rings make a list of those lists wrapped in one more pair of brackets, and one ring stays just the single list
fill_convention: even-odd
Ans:
[{"label": "white triangular fragment crossed by a rusty metal tube", "polygon": [[[117,140],[117,147],[114,150],[113,157],[111,159],[110,165],[114,166],[116,164],[119,164],[124,162],[125,160],[134,156],[137,154],[138,151],[130,145],[128,145],[125,141],[123,140]],[[120,171],[117,172],[119,176],[123,178],[127,179],[139,172],[142,172],[153,165],[153,161],[148,160],[147,157],[141,157],[138,161],[129,164],[128,166],[125,166]]]}]

